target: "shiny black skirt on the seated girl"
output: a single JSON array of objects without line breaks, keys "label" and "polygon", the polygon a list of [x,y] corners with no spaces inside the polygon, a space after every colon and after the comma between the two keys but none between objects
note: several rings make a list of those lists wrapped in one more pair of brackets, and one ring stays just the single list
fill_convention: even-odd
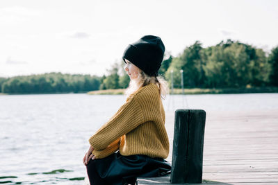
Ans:
[{"label": "shiny black skirt on the seated girl", "polygon": [[123,156],[116,152],[104,159],[90,160],[87,173],[91,185],[134,184],[136,177],[161,177],[171,172],[170,164],[146,155]]}]

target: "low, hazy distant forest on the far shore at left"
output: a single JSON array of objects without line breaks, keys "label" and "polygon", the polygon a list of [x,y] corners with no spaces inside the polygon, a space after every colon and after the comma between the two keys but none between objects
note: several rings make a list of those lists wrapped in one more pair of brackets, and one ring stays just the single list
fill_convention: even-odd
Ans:
[{"label": "low, hazy distant forest on the far shore at left", "polygon": [[44,73],[0,78],[1,92],[8,94],[52,94],[87,92],[99,89],[100,78],[90,75]]}]

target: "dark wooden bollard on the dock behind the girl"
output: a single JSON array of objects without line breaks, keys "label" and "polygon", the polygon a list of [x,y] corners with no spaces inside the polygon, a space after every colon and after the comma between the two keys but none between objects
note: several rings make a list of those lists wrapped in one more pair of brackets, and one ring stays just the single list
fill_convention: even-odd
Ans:
[{"label": "dark wooden bollard on the dock behind the girl", "polygon": [[202,109],[177,109],[174,118],[174,141],[171,183],[202,183],[204,127]]}]

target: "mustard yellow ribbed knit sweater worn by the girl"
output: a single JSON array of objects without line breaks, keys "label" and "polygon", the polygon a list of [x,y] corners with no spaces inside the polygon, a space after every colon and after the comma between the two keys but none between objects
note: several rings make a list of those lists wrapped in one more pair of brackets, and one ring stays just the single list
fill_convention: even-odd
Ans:
[{"label": "mustard yellow ribbed knit sweater worn by the girl", "polygon": [[165,112],[157,85],[141,87],[117,113],[89,139],[96,159],[120,154],[166,158],[169,140]]}]

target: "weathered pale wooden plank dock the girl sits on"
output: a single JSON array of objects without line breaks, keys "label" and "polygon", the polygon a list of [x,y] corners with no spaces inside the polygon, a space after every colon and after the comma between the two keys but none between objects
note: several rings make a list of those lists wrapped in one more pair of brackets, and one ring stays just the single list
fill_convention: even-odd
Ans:
[{"label": "weathered pale wooden plank dock the girl sits on", "polygon": [[[278,184],[278,110],[206,113],[202,184]],[[174,113],[166,115],[170,161]]]}]

